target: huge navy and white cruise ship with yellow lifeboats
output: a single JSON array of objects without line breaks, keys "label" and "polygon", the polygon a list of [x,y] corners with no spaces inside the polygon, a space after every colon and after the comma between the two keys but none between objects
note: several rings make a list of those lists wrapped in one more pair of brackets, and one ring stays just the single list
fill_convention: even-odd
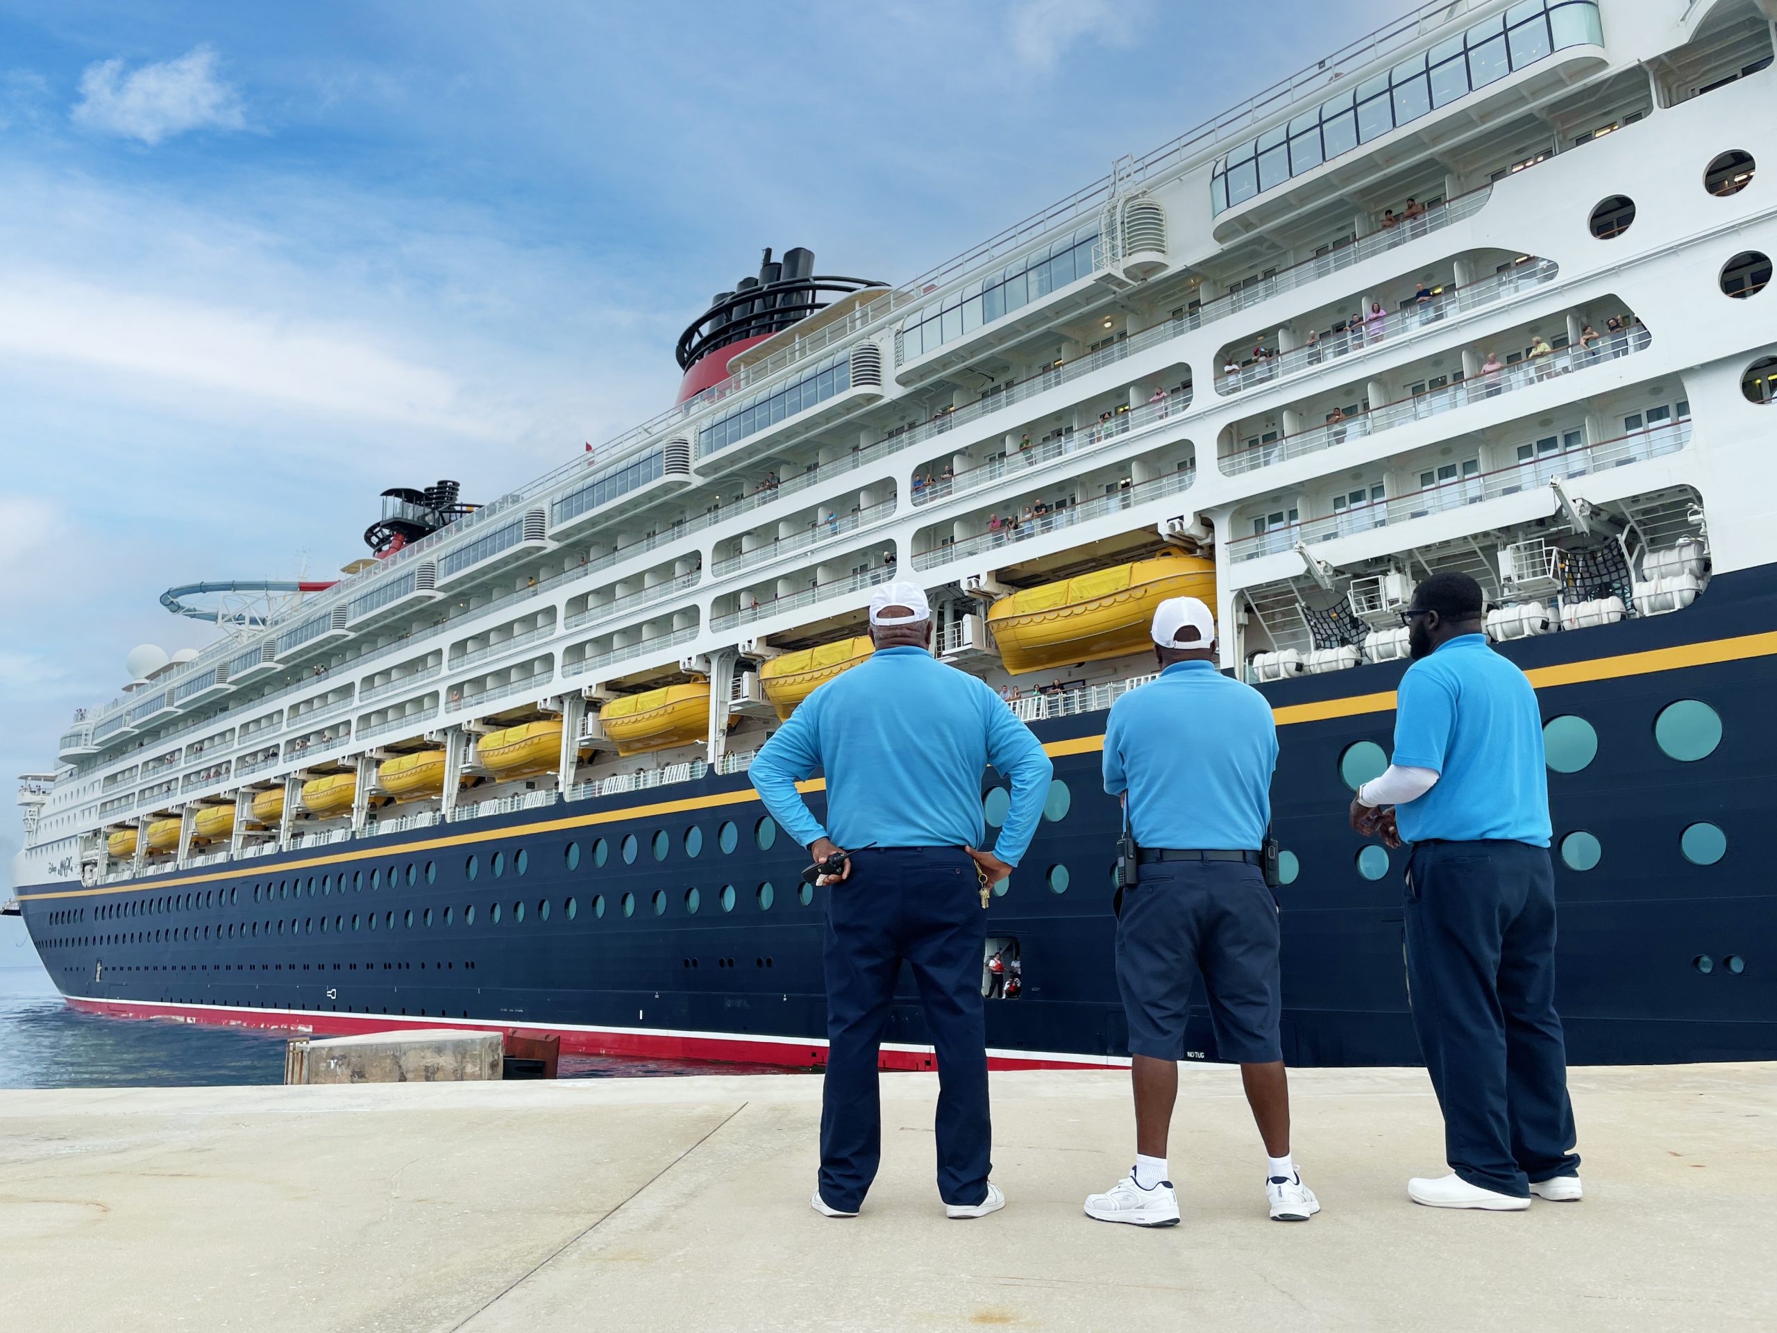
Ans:
[{"label": "huge navy and white cruise ship with yellow lifeboats", "polygon": [[[746,768],[896,578],[1056,761],[992,1058],[1116,1065],[1105,709],[1192,594],[1279,725],[1285,1054],[1414,1063],[1402,853],[1345,809],[1459,569],[1546,718],[1571,1058],[1777,1058],[1773,20],[1427,4],[912,281],[768,251],[650,421],[393,487],[338,581],[167,594],[215,642],[131,654],[21,787],[50,976],[819,1066],[826,890]],[[887,1042],[931,1063],[912,988]]]}]

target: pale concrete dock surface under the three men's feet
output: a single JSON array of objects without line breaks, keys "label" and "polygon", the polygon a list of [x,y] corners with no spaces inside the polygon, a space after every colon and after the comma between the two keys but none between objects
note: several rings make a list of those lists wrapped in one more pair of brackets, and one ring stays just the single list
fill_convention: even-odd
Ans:
[{"label": "pale concrete dock surface under the three men's feet", "polygon": [[821,1081],[0,1093],[0,1328],[1777,1328],[1777,1065],[1573,1072],[1583,1203],[1407,1201],[1422,1070],[1297,1070],[1324,1212],[1265,1216],[1239,1074],[1187,1066],[1183,1223],[1089,1221],[1127,1075],[993,1075],[1004,1212],[949,1221],[936,1081],[883,1075],[865,1210],[809,1209]]}]

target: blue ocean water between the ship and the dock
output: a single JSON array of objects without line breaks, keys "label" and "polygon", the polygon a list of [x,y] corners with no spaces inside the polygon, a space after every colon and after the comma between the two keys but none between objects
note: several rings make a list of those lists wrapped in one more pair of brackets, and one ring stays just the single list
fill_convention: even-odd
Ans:
[{"label": "blue ocean water between the ship and the dock", "polygon": [[[0,967],[0,1088],[204,1088],[284,1081],[284,1033],[68,1008],[39,967]],[[782,1074],[697,1059],[563,1056],[563,1079]]]}]

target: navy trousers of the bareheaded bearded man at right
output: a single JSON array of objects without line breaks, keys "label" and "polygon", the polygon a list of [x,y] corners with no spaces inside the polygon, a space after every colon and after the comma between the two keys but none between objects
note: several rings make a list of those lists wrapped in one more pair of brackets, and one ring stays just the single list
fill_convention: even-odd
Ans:
[{"label": "navy trousers of the bareheaded bearded man at right", "polygon": [[1548,848],[1416,844],[1406,928],[1413,1027],[1450,1169],[1516,1198],[1532,1180],[1576,1175]]}]

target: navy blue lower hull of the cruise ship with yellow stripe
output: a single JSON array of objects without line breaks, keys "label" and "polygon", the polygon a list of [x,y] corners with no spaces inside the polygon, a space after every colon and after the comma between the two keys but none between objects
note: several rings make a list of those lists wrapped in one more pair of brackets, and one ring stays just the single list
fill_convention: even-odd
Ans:
[{"label": "navy blue lower hull of the cruise ship with yellow stripe", "polygon": [[[1777,816],[1777,574],[1718,576],[1683,613],[1503,651],[1537,679],[1546,718],[1574,714],[1598,734],[1583,770],[1550,773],[1557,848],[1578,830],[1601,853],[1585,871],[1557,853],[1571,1059],[1777,1058],[1777,898],[1765,842]],[[1402,670],[1265,688],[1283,739],[1276,828],[1299,866],[1278,890],[1283,1043],[1295,1065],[1418,1063],[1402,965],[1404,853],[1381,878],[1359,871],[1365,842],[1345,825],[1340,777],[1351,745],[1388,748]],[[1720,743],[1690,762],[1654,734],[1660,711],[1683,698],[1722,720]],[[990,935],[1015,942],[1024,981],[1018,999],[988,1004],[1000,1063],[1127,1054],[1112,976],[1118,814],[1098,782],[1104,718],[1034,727],[1066,784],[1052,812],[1066,810],[1043,819],[992,905]],[[471,1022],[560,1031],[579,1050],[817,1065],[828,890],[800,901],[803,850],[761,839],[761,819],[745,777],[709,777],[103,890],[27,885],[20,899],[52,978],[91,1008],[315,1031]],[[1681,851],[1697,823],[1725,834],[1715,864]],[[631,835],[636,857],[626,864]],[[910,988],[888,1042],[912,1050],[885,1063],[929,1061],[917,1050],[926,1033]],[[1201,1013],[1187,1045],[1215,1058]]]}]

